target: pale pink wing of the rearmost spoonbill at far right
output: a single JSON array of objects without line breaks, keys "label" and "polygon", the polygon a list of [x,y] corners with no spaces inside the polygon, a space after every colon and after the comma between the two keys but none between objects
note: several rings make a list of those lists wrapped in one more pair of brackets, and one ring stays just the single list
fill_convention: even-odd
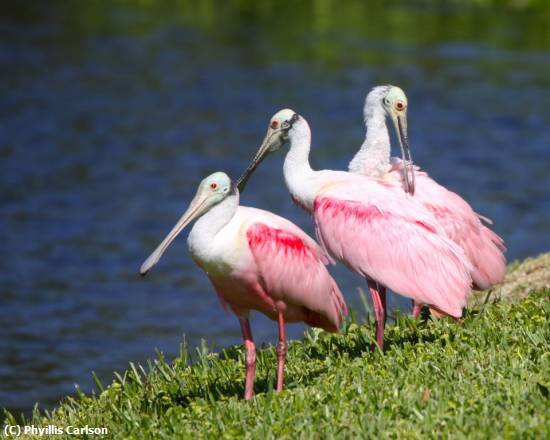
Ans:
[{"label": "pale pink wing of the rearmost spoonbill at far right", "polygon": [[[403,165],[392,158],[392,175],[403,180]],[[415,167],[415,169],[417,169]],[[448,237],[457,243],[473,265],[472,278],[477,287],[488,289],[500,283],[506,273],[504,241],[483,225],[472,207],[455,192],[439,185],[417,169],[414,197],[433,212]]]}]

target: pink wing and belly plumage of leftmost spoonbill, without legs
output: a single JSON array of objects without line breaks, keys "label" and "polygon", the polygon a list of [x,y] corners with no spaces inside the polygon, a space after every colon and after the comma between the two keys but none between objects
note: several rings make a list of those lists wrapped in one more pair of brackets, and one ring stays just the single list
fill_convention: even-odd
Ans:
[{"label": "pink wing and belly plumage of leftmost spoonbill, without legs", "polygon": [[269,226],[261,222],[245,226],[243,241],[249,252],[243,252],[230,270],[209,273],[224,305],[239,316],[258,310],[274,321],[281,311],[286,322],[305,322],[337,332],[347,308],[325,267],[322,249],[281,217],[254,208],[238,210],[239,217],[249,221],[254,219],[251,214],[260,214],[260,221],[269,216]]}]

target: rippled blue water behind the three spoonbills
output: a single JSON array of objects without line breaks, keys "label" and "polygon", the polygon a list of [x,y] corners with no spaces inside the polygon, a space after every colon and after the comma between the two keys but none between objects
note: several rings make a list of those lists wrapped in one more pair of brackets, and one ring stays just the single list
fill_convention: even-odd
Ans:
[{"label": "rippled blue water behind the three spoonbills", "polygon": [[[362,141],[365,93],[400,85],[416,162],[494,220],[509,259],[550,247],[550,45],[523,35],[529,17],[480,36],[405,38],[323,20],[285,34],[284,22],[265,29],[245,13],[225,23],[212,11],[153,19],[52,5],[0,18],[0,407],[51,407],[75,383],[90,390],[91,371],[108,382],[155,349],[176,355],[183,335],[191,348],[240,343],[186,234],[148,277],[137,271],[198,182],[216,170],[238,176],[283,107],[310,122],[313,165],[340,169]],[[405,13],[443,23],[449,14]],[[242,203],[311,232],[282,160],[260,167]],[[362,280],[333,274],[361,313]],[[261,316],[253,331],[276,338]]]}]

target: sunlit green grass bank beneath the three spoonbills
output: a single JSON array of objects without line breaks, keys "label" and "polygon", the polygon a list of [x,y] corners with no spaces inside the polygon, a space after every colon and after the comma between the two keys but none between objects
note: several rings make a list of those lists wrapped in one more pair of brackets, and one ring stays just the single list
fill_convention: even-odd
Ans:
[{"label": "sunlit green grass bank beneath the three spoonbills", "polygon": [[549,299],[543,289],[458,323],[398,316],[384,354],[371,325],[309,331],[290,344],[280,395],[274,349],[258,353],[251,402],[241,347],[202,350],[191,365],[185,350],[170,364],[159,355],[26,423],[107,427],[115,438],[549,438]]}]

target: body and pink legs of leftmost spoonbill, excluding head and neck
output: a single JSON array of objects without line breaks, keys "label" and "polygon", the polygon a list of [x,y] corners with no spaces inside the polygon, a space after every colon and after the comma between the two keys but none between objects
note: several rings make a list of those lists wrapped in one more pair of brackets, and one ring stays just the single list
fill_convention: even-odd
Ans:
[{"label": "body and pink legs of leftmost spoonbill, excluding head and neck", "polygon": [[219,258],[213,261],[197,254],[193,258],[208,274],[222,303],[239,318],[247,351],[245,399],[250,399],[256,369],[250,310],[278,321],[277,391],[281,391],[285,323],[305,322],[338,332],[347,307],[325,267],[323,250],[288,220],[260,209],[238,207],[224,229],[219,234],[231,236],[232,240],[230,247],[226,247],[227,243],[219,247]]}]

